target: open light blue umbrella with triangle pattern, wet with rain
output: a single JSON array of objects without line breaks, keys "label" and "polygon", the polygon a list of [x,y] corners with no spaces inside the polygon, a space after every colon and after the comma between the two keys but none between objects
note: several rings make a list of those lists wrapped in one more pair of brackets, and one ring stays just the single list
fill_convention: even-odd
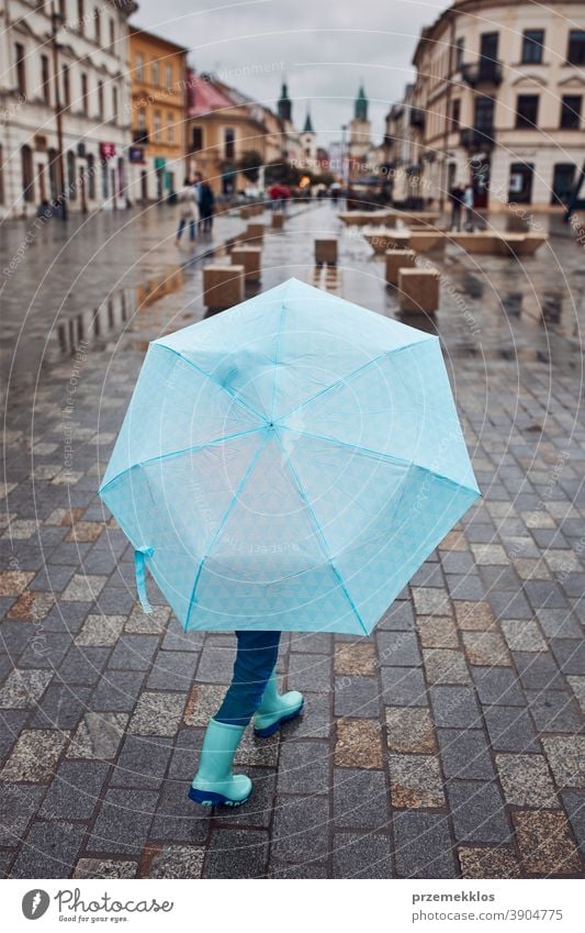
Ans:
[{"label": "open light blue umbrella with triangle pattern, wet with rain", "polygon": [[290,279],[149,345],[100,495],[185,629],[369,634],[480,491],[438,338]]}]

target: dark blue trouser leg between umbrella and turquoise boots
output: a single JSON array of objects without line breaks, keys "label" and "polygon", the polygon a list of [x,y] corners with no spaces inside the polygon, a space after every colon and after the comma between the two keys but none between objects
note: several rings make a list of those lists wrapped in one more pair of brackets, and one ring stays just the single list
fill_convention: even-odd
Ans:
[{"label": "dark blue trouser leg between umbrella and turquoise boots", "polygon": [[248,725],[277,666],[280,632],[236,632],[238,651],[232,684],[214,719]]}]

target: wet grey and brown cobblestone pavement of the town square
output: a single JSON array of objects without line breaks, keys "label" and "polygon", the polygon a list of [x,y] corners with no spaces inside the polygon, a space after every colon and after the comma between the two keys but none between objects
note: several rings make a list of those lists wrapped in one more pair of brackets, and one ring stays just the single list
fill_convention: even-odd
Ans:
[{"label": "wet grey and brown cobblestone pavement of the town square", "polygon": [[[114,220],[99,223],[113,232]],[[79,270],[75,249],[29,313],[50,242],[31,247],[10,282],[7,353],[21,324],[23,333],[0,486],[4,873],[582,875],[582,251],[559,236],[524,266],[504,257],[477,265],[454,247],[438,262],[437,323],[484,499],[372,637],[283,637],[279,667],[305,692],[304,715],[280,737],[246,736],[237,760],[254,796],[209,813],[185,795],[228,682],[233,638],[183,634],[151,581],[156,611],[142,613],[131,547],[95,496],[146,341],[203,315],[200,263],[168,295],[159,288],[157,301],[151,288],[138,292],[158,264],[168,259],[169,278],[177,271],[168,245],[156,263],[148,255],[157,236],[171,236],[171,218],[155,230],[142,223],[124,246],[114,238],[112,265],[90,260],[72,311],[59,308]],[[11,230],[4,266],[22,227]],[[331,231],[341,237],[339,268],[316,270],[313,236]],[[126,284],[135,293],[125,320],[115,309],[109,316],[103,296],[119,300],[123,267],[140,251],[150,271],[138,265]],[[267,236],[263,263],[262,288],[293,274],[397,313],[381,260],[328,206]],[[82,336],[76,318],[91,324],[98,304],[101,329],[86,324],[87,352],[72,355]],[[66,337],[54,341],[59,325]]]}]

